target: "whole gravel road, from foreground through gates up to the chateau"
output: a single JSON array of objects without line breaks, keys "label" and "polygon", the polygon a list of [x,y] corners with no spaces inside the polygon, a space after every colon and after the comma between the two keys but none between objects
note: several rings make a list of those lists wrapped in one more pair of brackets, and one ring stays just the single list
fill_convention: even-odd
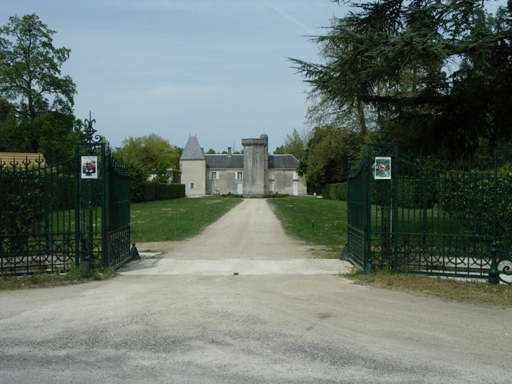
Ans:
[{"label": "whole gravel road, from foreground through gates up to the chateau", "polygon": [[106,282],[0,292],[0,383],[512,380],[511,309],[351,284],[262,199],[137,249],[162,253]]}]

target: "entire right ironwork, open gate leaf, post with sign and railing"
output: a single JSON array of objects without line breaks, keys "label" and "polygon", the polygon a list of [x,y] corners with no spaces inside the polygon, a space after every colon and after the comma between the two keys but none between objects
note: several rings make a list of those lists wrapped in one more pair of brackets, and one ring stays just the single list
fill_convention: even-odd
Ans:
[{"label": "entire right ironwork, open gate leaf, post with sign and railing", "polygon": [[348,258],[371,271],[512,283],[512,178],[492,164],[398,157],[381,135],[349,157]]}]

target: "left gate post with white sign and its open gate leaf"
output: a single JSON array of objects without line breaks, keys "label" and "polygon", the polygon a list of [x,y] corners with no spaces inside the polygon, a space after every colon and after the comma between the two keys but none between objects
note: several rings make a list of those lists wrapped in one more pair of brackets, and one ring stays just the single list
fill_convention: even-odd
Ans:
[{"label": "left gate post with white sign and its open gate leaf", "polygon": [[117,267],[130,253],[130,176],[86,120],[85,138],[75,145],[77,183],[76,257],[86,267]]}]

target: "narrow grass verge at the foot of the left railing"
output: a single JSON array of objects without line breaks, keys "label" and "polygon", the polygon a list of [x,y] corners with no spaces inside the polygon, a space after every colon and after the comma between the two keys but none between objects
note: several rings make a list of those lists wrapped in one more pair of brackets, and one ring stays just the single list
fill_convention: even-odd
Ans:
[{"label": "narrow grass verge at the foot of the left railing", "polygon": [[11,291],[14,289],[49,288],[53,286],[64,286],[70,284],[81,284],[116,277],[114,270],[94,270],[81,272],[79,267],[72,267],[71,270],[60,273],[36,272],[30,276],[0,276],[0,291]]}]

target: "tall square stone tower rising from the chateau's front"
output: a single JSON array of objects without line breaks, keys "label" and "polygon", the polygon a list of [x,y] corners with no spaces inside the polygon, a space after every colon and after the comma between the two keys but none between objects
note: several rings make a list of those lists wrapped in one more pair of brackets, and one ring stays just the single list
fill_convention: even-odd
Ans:
[{"label": "tall square stone tower rising from the chateau's front", "polygon": [[242,139],[243,194],[269,193],[269,136]]}]

